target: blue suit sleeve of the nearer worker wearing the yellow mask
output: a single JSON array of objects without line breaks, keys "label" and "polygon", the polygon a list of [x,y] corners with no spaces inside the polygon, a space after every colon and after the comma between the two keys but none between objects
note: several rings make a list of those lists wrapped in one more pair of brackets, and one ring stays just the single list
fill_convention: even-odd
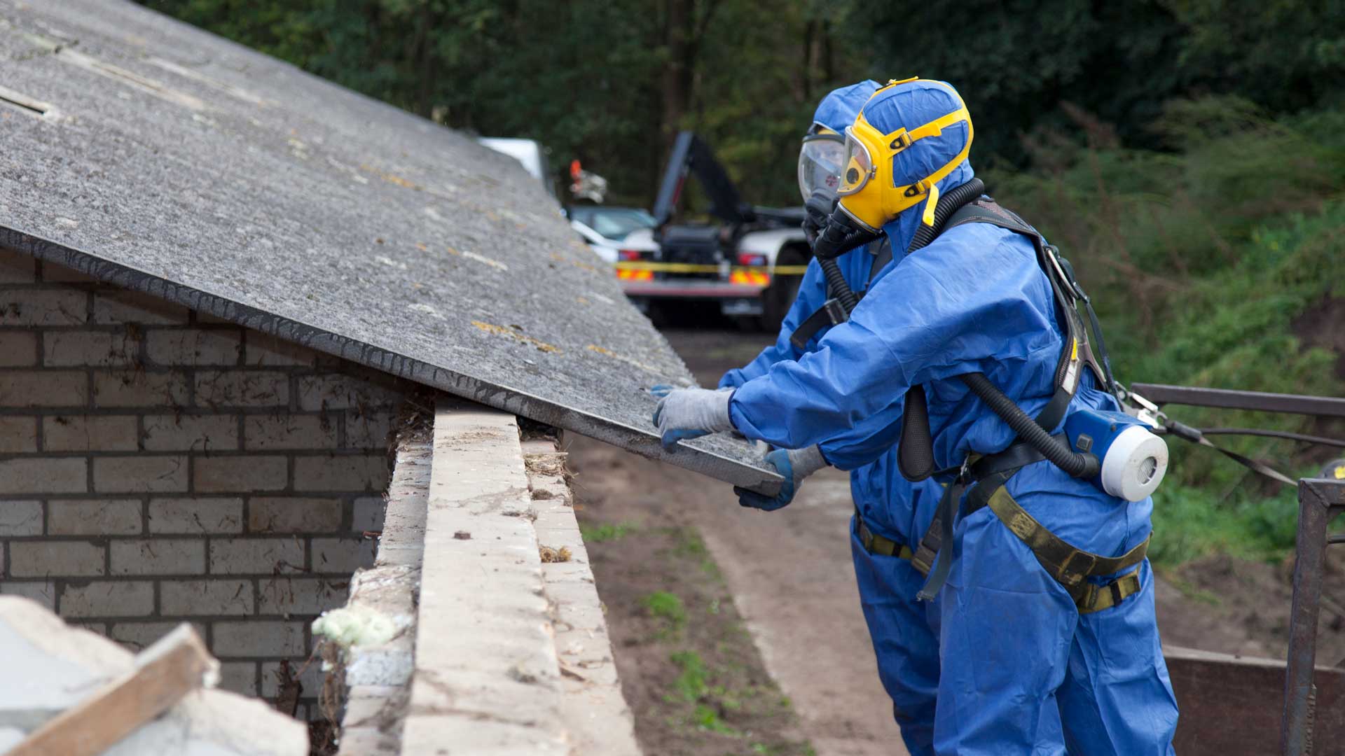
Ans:
[{"label": "blue suit sleeve of the nearer worker wearing the yellow mask", "polygon": [[820,444],[831,464],[854,469],[897,443],[911,386],[972,371],[994,381],[1054,351],[1049,296],[1026,238],[960,226],[902,258],[816,351],[738,386],[730,417],[749,439]]}]

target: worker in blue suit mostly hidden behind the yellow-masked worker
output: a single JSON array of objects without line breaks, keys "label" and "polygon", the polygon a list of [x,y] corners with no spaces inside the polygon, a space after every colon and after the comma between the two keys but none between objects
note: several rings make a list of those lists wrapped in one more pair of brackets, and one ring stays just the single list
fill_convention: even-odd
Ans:
[{"label": "worker in blue suit mostly hidden behind the yellow-masked worker", "polygon": [[[842,132],[877,89],[874,81],[859,82],[831,91],[818,105],[799,153],[799,190],[804,202],[815,194],[829,196],[830,211],[843,165]],[[880,246],[881,241],[863,245],[837,258],[854,292],[863,292],[893,268],[890,248],[880,250]],[[761,350],[746,366],[725,373],[720,389],[737,389],[779,362],[796,361],[815,351],[833,323],[818,320],[819,327],[804,324],[812,322],[815,313],[824,312],[827,300],[827,281],[818,261],[812,260],[776,343]],[[800,326],[819,330],[806,334],[799,330]],[[777,457],[781,455],[775,453]],[[924,574],[912,565],[912,557],[933,517],[942,486],[932,479],[921,483],[904,479],[897,472],[894,449],[888,449],[876,461],[850,472],[850,491],[857,513],[850,525],[850,552],[859,601],[878,659],[878,677],[892,697],[893,716],[901,726],[907,749],[912,756],[927,756],[933,753],[935,693],[939,686],[937,613],[933,605],[916,601]],[[740,502],[769,510],[787,504],[788,499],[742,492]]]}]

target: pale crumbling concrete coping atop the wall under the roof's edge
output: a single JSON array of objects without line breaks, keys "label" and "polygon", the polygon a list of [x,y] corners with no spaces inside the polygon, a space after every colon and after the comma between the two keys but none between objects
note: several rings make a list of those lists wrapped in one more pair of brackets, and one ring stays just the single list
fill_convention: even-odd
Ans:
[{"label": "pale crumbling concrete coping atop the wall under the roof's edge", "polygon": [[554,440],[440,400],[352,581],[347,609],[394,630],[342,652],[340,753],[640,753],[572,503]]}]

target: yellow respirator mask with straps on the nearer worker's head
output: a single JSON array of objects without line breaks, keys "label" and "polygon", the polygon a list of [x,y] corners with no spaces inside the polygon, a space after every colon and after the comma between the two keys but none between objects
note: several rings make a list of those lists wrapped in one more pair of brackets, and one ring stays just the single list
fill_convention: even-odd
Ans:
[{"label": "yellow respirator mask with straps on the nearer worker's head", "polygon": [[[878,91],[912,81],[916,79],[892,81]],[[952,90],[950,89],[950,91]],[[877,94],[874,93],[874,97]],[[845,210],[846,215],[863,225],[869,231],[877,231],[902,210],[924,202],[923,222],[927,226],[933,225],[933,209],[939,203],[939,182],[960,165],[971,152],[971,114],[967,112],[967,105],[962,102],[962,97],[956,91],[952,91],[952,96],[958,98],[959,108],[956,110],[915,129],[901,128],[885,135],[869,125],[863,110],[859,112],[853,126],[846,126],[845,168],[841,174],[841,187],[837,190],[841,196],[839,207]],[[962,121],[967,122],[967,144],[952,160],[915,183],[893,186],[892,161],[897,153],[921,139],[940,136],[943,129]]]}]

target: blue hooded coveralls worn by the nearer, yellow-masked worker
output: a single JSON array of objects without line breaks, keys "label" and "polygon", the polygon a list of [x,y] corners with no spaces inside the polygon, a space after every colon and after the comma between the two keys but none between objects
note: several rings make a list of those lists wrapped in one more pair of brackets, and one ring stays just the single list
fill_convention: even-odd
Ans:
[{"label": "blue hooded coveralls worn by the nearer, yellow-masked worker", "polygon": [[[863,113],[890,133],[956,108],[947,90],[917,81],[880,93]],[[893,159],[897,186],[947,164],[966,139],[966,124],[956,124],[900,152]],[[971,178],[963,163],[940,190]],[[909,245],[920,211],[917,204],[885,226],[893,249]],[[911,386],[925,387],[937,467],[958,467],[971,452],[1009,447],[1014,432],[956,375],[985,373],[1036,416],[1054,390],[1063,346],[1053,295],[1032,242],[989,223],[968,223],[898,254],[849,322],[831,328],[808,354],[742,382],[729,412],[748,439],[790,449],[820,444],[835,467],[869,471],[863,478],[870,482],[900,480],[893,445]],[[1118,409],[1088,371],[1069,412],[1081,408]],[[869,490],[863,478],[855,483],[857,500]],[[1119,556],[1151,530],[1151,499],[1110,496],[1049,461],[1024,467],[1006,486],[1020,506],[1079,549]],[[916,499],[911,508],[923,510]],[[929,515],[921,514],[920,522],[928,523]],[[1065,588],[990,507],[958,519],[954,541],[939,558],[950,556],[952,572],[937,603],[935,753],[1173,752],[1177,704],[1147,560],[1139,593],[1080,615]]]}]

